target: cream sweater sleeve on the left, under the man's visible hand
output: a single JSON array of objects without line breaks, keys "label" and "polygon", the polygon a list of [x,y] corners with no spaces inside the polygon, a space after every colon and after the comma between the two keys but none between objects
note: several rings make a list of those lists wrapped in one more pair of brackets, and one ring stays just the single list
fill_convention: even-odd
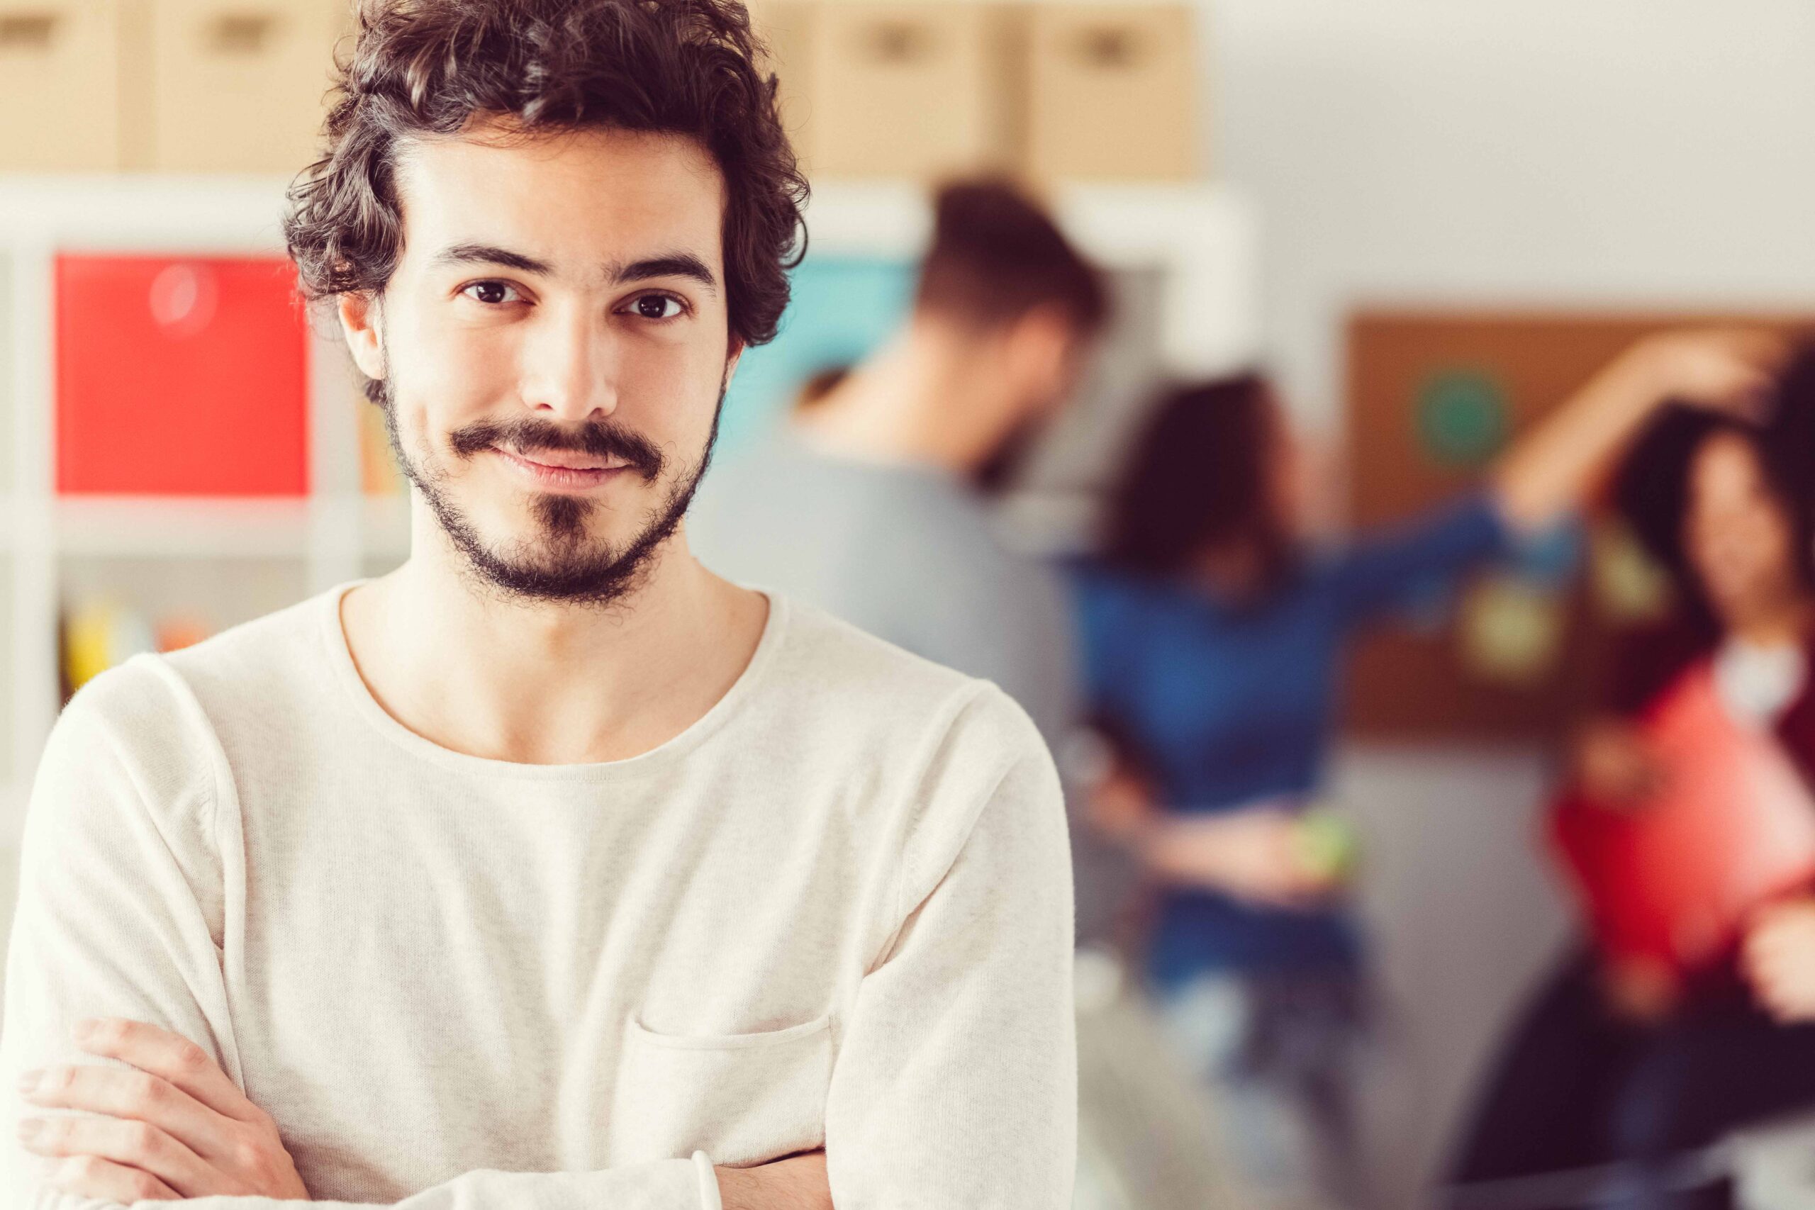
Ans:
[{"label": "cream sweater sleeve on the left, under the man's visible hand", "polygon": [[[198,1043],[245,1087],[221,976],[223,889],[214,767],[196,718],[134,660],[69,704],[45,746],[25,813],[20,893],[0,1023],[0,1205],[122,1210],[40,1179],[18,1121],[53,1110],[15,1092],[29,1069],[107,1063],[78,1050],[89,1016],[149,1021]],[[211,737],[207,737],[211,740]],[[281,1123],[280,1123],[281,1125]],[[169,1203],[136,1203],[142,1210]],[[285,1210],[267,1197],[200,1197],[198,1210]],[[704,1156],[606,1172],[470,1172],[399,1210],[721,1210]],[[370,1208],[367,1208],[370,1210]]]}]

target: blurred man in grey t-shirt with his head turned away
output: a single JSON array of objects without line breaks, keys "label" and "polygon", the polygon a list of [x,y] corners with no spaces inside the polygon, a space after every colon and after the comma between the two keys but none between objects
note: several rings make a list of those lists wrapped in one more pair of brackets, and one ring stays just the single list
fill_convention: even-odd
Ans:
[{"label": "blurred man in grey t-shirt with his head turned away", "polygon": [[[693,550],[908,651],[987,677],[1056,747],[1078,722],[1062,577],[996,539],[989,492],[1071,392],[1107,319],[1098,270],[1016,189],[935,200],[906,327],[799,392],[788,426],[717,472]],[[1073,802],[1076,796],[1073,795]],[[1109,940],[1127,860],[1074,831],[1076,934]],[[1078,961],[1080,1210],[1252,1205],[1143,998],[1102,952]]]}]

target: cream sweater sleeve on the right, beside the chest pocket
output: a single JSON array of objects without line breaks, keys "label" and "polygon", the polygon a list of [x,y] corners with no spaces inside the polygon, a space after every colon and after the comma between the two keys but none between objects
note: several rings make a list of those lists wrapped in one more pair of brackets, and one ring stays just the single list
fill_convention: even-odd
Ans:
[{"label": "cream sweater sleeve on the right, beside the chest pocket", "polygon": [[1071,1205],[1064,804],[1027,717],[995,689],[973,706],[933,762],[904,847],[902,923],[840,1039],[826,1103],[839,1210]]}]

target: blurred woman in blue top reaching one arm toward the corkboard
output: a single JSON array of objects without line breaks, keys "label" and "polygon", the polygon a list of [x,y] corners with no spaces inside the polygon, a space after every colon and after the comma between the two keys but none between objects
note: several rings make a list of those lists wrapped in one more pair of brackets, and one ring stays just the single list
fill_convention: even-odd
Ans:
[{"label": "blurred woman in blue top reaching one arm toward the corkboard", "polygon": [[1301,541],[1300,459],[1263,379],[1156,406],[1073,577],[1091,709],[1116,753],[1094,818],[1162,887],[1147,972],[1227,1107],[1245,1179],[1280,1205],[1361,1197],[1359,940],[1301,820],[1349,637],[1563,521],[1664,401],[1753,406],[1782,356],[1757,332],[1648,337],[1477,492],[1327,551]]}]

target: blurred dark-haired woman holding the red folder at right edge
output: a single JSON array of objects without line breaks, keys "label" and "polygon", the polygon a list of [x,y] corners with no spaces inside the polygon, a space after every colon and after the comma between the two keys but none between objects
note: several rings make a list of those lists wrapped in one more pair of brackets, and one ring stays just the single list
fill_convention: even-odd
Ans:
[{"label": "blurred dark-haired woman holding the red folder at right edge", "polygon": [[[1637,720],[1695,668],[1712,671],[1732,720],[1815,775],[1811,421],[1806,352],[1771,428],[1672,410],[1634,446],[1615,501],[1670,571],[1679,617],[1624,644],[1606,713],[1579,733],[1572,784],[1588,809],[1646,809],[1663,771]],[[1697,1148],[1806,1108],[1815,889],[1757,909],[1737,952],[1706,971],[1572,945],[1496,1063],[1450,1205],[1724,1210],[1732,1190],[1697,1168]],[[1610,1174],[1624,1181],[1612,1192]]]}]

